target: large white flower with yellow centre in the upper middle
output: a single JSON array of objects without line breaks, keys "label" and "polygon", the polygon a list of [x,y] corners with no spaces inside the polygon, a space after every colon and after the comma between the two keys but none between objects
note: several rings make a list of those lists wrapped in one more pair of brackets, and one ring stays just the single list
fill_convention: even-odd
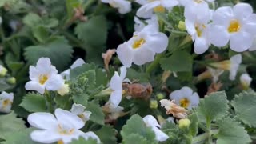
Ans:
[{"label": "large white flower with yellow centre in the upper middle", "polygon": [[135,32],[128,42],[118,46],[118,58],[123,66],[130,67],[132,62],[143,65],[154,61],[156,53],[162,53],[168,46],[168,37],[155,26],[148,25],[140,32]]}]

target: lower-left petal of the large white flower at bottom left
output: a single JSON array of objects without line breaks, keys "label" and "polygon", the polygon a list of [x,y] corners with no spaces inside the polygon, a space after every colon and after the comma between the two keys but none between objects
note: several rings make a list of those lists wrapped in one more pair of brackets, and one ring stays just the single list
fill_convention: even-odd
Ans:
[{"label": "lower-left petal of the large white flower at bottom left", "polygon": [[60,135],[54,133],[52,130],[34,130],[30,137],[35,142],[53,143],[61,140]]}]

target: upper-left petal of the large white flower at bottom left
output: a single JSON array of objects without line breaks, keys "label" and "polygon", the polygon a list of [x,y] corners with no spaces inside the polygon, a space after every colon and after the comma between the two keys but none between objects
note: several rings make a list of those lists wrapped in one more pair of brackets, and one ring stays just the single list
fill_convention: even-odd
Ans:
[{"label": "upper-left petal of the large white flower at bottom left", "polygon": [[27,118],[31,126],[38,129],[50,130],[57,127],[58,122],[53,114],[50,113],[33,113]]}]

